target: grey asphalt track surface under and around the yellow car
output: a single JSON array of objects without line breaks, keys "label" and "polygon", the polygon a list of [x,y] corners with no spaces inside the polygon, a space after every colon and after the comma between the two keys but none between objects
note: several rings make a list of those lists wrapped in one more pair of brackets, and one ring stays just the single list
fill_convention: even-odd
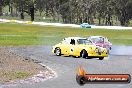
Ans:
[{"label": "grey asphalt track surface under and around the yellow car", "polygon": [[[132,75],[132,46],[113,46],[104,60],[55,56],[51,46],[10,47],[12,52],[37,59],[57,72],[58,77],[35,84],[18,84],[5,88],[132,88],[130,84],[86,84],[76,83],[77,67],[81,65],[88,74]],[[125,50],[125,51],[124,51]]]}]

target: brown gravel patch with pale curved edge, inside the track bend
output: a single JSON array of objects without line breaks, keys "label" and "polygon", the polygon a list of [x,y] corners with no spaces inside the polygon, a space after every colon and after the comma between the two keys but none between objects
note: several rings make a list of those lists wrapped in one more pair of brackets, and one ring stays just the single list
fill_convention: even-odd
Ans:
[{"label": "brown gravel patch with pale curved edge, inside the track bend", "polygon": [[12,47],[0,47],[0,86],[32,84],[56,76],[52,69],[38,60],[16,54]]}]

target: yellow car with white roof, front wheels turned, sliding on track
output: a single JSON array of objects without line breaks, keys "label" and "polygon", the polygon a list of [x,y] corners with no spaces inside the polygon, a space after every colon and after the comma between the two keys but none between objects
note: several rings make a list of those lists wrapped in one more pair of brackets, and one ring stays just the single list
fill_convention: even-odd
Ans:
[{"label": "yellow car with white roof, front wheels turned, sliding on track", "polygon": [[103,60],[108,56],[107,49],[95,46],[87,38],[68,37],[64,38],[61,43],[52,47],[52,52],[57,56],[68,55],[82,58],[99,58]]}]

